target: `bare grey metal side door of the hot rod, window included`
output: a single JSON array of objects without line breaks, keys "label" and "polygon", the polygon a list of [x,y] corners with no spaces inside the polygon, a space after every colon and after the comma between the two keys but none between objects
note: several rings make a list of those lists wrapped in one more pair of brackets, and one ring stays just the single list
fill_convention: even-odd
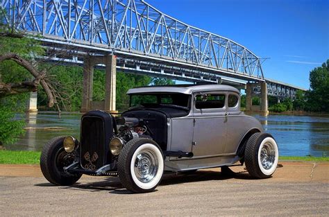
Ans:
[{"label": "bare grey metal side door of the hot rod, window included", "polygon": [[226,146],[226,94],[194,94],[194,157],[221,155]]}]

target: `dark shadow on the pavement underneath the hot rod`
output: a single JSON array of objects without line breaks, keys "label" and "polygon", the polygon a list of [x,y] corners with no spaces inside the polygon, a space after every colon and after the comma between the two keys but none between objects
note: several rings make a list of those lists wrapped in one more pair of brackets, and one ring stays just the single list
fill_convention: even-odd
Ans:
[{"label": "dark shadow on the pavement underneath the hot rod", "polygon": [[[218,169],[219,170],[219,169]],[[183,184],[187,182],[204,182],[210,180],[229,180],[229,179],[239,179],[239,180],[253,180],[253,177],[248,175],[247,171],[233,172],[230,169],[223,171],[208,171],[200,170],[194,173],[165,173],[160,182],[160,186]],[[35,186],[55,186],[50,183],[35,184]],[[73,184],[71,186],[59,186],[60,189],[67,190],[78,190],[78,191],[108,191],[114,194],[130,194],[131,192],[126,190],[122,186],[119,177],[105,177],[101,181],[89,182],[89,183],[79,183]],[[155,191],[154,191],[155,192]]]}]

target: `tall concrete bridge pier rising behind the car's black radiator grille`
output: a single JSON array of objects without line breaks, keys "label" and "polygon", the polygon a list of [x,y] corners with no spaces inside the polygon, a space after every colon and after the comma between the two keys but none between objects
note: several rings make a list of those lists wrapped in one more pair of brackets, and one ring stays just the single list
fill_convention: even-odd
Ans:
[{"label": "tall concrete bridge pier rising behind the car's black radiator grille", "polygon": [[[92,87],[94,78],[94,66],[96,64],[106,65],[106,98],[105,101],[92,100]],[[116,79],[117,79],[117,57],[115,55],[91,56],[84,59],[83,66],[83,98],[81,112],[90,110],[116,111]]]}]

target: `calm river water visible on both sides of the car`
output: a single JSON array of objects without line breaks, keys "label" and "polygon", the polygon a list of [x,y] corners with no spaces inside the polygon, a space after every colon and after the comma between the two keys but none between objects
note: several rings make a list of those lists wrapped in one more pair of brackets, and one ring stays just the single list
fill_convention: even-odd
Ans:
[{"label": "calm river water visible on both sides of the car", "polygon": [[[329,116],[252,114],[264,129],[273,134],[282,156],[328,156]],[[72,135],[79,137],[79,113],[63,113],[61,119],[54,112],[39,112],[24,116],[26,133],[16,144],[6,146],[8,150],[42,150],[52,137]]]}]

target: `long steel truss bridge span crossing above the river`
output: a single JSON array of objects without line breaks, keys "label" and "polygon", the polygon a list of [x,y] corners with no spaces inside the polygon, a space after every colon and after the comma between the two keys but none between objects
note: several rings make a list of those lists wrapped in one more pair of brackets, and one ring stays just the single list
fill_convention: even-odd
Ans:
[{"label": "long steel truss bridge span crossing above the river", "polygon": [[86,54],[115,54],[117,69],[129,73],[194,83],[265,81],[269,95],[282,97],[301,89],[264,78],[262,59],[246,47],[143,0],[1,0],[0,8],[4,24],[58,51],[50,61],[76,64]]}]

